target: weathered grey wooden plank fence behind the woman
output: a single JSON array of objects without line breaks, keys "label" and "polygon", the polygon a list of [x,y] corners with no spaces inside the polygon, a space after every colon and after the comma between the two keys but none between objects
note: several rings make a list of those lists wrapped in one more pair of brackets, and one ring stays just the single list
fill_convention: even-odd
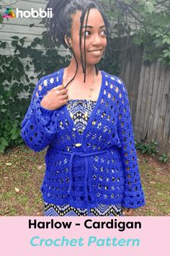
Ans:
[{"label": "weathered grey wooden plank fence behind the woman", "polygon": [[[139,142],[158,142],[156,149],[170,155],[170,67],[145,64],[143,48],[122,42],[120,78],[128,90],[133,132]],[[132,45],[132,44],[131,44]]]}]

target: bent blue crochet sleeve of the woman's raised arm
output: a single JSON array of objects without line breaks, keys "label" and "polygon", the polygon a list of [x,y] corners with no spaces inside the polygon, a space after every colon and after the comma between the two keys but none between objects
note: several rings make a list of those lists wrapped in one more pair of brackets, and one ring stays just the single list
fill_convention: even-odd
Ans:
[{"label": "bent blue crochet sleeve of the woman's raised arm", "polygon": [[30,107],[22,121],[22,139],[34,151],[46,148],[58,132],[57,111],[40,106],[42,98],[48,93],[50,87],[48,80],[44,80],[43,77],[37,82]]}]

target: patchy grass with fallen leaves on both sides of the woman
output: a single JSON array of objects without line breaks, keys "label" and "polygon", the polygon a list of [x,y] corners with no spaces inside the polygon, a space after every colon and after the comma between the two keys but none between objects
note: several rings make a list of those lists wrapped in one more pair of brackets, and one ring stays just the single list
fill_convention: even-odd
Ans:
[{"label": "patchy grass with fallen leaves on both sides of the woman", "polygon": [[[0,155],[0,216],[43,215],[44,157],[45,150],[35,153],[24,145]],[[135,216],[170,216],[169,163],[138,152],[138,164],[146,206],[135,210]]]}]

